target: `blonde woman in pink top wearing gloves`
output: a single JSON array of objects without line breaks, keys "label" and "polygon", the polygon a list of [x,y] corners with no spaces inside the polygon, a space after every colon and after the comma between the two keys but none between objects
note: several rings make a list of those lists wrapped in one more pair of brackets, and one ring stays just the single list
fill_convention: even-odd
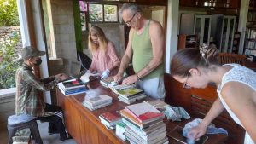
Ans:
[{"label": "blonde woman in pink top wearing gloves", "polygon": [[101,78],[117,74],[120,64],[119,57],[116,55],[113,42],[107,39],[101,27],[92,26],[90,28],[88,42],[92,54],[90,72],[101,73]]}]

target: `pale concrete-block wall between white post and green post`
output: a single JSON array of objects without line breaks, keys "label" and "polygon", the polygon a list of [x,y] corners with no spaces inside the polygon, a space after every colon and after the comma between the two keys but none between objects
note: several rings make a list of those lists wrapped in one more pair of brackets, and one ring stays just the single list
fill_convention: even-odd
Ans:
[{"label": "pale concrete-block wall between white post and green post", "polygon": [[[47,4],[49,37],[53,55],[62,58],[64,72],[70,72],[71,61],[77,60],[72,0],[50,0]],[[51,72],[50,72],[51,74]]]}]

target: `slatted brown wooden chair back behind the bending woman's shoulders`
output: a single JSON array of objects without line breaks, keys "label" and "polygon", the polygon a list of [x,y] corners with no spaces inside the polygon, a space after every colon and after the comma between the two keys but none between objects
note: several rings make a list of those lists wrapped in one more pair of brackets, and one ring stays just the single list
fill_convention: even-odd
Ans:
[{"label": "slatted brown wooden chair back behind the bending woman's shoulders", "polygon": [[247,59],[246,55],[219,53],[219,64],[221,65],[229,64],[229,63],[237,63],[242,66],[245,66],[246,59]]}]

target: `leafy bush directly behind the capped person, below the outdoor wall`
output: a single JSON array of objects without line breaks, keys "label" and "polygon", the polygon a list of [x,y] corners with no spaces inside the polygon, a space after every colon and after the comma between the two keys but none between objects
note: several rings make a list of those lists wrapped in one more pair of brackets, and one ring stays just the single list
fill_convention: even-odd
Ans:
[{"label": "leafy bush directly behind the capped person, below the outdoor wall", "polygon": [[18,69],[17,45],[20,35],[13,32],[0,41],[0,89],[15,87],[15,72]]}]

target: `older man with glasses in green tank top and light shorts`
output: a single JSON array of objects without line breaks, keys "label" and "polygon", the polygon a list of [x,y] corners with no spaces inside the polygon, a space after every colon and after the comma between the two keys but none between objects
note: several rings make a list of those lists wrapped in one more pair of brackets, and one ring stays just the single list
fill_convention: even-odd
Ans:
[{"label": "older man with glasses in green tank top and light shorts", "polygon": [[125,3],[120,14],[127,26],[131,27],[129,42],[122,58],[119,73],[114,77],[119,81],[132,58],[136,74],[125,78],[122,84],[137,83],[146,95],[156,99],[165,97],[163,28],[154,20],[147,20],[142,10],[134,3]]}]

